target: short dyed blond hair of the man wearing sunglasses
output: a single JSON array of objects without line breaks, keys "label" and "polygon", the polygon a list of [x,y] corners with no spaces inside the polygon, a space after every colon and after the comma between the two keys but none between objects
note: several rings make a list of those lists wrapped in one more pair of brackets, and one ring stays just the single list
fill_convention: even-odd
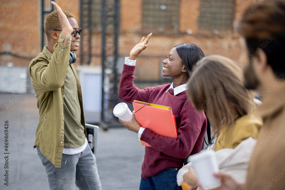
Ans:
[{"label": "short dyed blond hair of the man wearing sunglasses", "polygon": [[[68,11],[62,12],[66,15],[67,18],[75,17],[74,14]],[[50,39],[50,32],[52,30],[62,30],[57,11],[52,11],[50,14],[48,14],[46,16],[46,20],[44,21],[44,31],[46,32],[48,39]]]}]

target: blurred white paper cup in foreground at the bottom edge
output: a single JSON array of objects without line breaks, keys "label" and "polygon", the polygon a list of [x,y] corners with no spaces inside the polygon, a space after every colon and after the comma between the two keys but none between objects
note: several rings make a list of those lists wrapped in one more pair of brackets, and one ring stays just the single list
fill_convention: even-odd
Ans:
[{"label": "blurred white paper cup in foreground at the bottom edge", "polygon": [[220,179],[213,175],[213,173],[219,172],[217,158],[213,150],[207,152],[202,151],[198,154],[189,156],[188,162],[192,162],[192,167],[204,190],[219,187]]}]

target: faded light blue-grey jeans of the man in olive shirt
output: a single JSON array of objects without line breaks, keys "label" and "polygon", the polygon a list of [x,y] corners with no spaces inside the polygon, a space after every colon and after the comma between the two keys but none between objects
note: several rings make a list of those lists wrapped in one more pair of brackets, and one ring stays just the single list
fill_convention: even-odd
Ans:
[{"label": "faded light blue-grey jeans of the man in olive shirt", "polygon": [[102,189],[96,158],[89,145],[78,154],[62,154],[61,167],[54,167],[38,148],[37,151],[42,165],[46,169],[48,185],[51,190],[73,190],[75,185],[80,190]]}]

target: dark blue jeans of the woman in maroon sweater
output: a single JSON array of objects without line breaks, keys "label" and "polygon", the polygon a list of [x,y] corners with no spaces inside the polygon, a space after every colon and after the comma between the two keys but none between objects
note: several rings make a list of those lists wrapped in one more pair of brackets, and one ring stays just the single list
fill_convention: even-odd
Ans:
[{"label": "dark blue jeans of the woman in maroon sweater", "polygon": [[148,179],[141,178],[140,190],[182,190],[176,182],[176,175],[180,168],[170,167]]}]

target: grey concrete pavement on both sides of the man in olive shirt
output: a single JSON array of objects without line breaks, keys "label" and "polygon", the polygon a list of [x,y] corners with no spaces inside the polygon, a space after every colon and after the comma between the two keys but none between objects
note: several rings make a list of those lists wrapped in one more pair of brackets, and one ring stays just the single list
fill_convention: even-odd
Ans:
[{"label": "grey concrete pavement on both sides of the man in olive shirt", "polygon": [[[0,189],[49,189],[45,169],[32,148],[38,117],[33,94],[0,94]],[[9,124],[8,151],[4,144],[5,121]],[[102,189],[139,189],[144,146],[136,133],[124,127],[107,131],[100,128],[99,152],[95,156]],[[9,186],[4,185],[7,173]]]}]

